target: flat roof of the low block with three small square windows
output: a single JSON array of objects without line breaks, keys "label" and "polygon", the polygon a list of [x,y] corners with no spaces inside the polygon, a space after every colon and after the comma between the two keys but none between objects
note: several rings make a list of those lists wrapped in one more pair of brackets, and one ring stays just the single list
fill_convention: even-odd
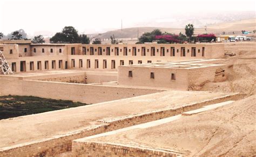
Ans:
[{"label": "flat roof of the low block with three small square windows", "polygon": [[200,64],[200,63],[177,63],[177,62],[156,62],[146,64],[123,65],[127,67],[157,67],[165,69],[195,69],[210,66],[223,66],[223,64]]}]

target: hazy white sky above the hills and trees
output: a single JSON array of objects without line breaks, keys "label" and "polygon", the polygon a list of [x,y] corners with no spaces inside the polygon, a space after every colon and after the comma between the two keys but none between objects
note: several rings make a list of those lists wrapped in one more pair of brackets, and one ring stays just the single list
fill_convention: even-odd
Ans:
[{"label": "hazy white sky above the hills and trees", "polygon": [[79,33],[100,32],[134,26],[152,19],[187,12],[255,11],[255,1],[22,1],[0,0],[0,32],[24,29],[30,35],[36,31],[61,31],[72,25]]}]

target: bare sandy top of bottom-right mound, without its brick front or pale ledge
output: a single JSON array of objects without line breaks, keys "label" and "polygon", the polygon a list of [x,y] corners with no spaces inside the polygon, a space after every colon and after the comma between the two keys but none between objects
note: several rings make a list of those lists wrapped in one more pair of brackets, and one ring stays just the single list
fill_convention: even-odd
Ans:
[{"label": "bare sandy top of bottom-right mound, without its brick front or pale ledge", "polygon": [[[256,155],[256,97],[160,126],[91,139],[133,146],[174,149],[189,156]],[[186,155],[186,156],[187,156]]]}]

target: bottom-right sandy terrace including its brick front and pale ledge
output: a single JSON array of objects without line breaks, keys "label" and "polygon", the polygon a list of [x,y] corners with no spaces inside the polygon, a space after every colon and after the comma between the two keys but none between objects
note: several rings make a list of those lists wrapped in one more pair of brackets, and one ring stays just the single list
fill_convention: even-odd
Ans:
[{"label": "bottom-right sandy terrace including its brick front and pale ledge", "polygon": [[[73,140],[74,156],[255,155],[255,96]],[[203,110],[201,110],[203,109]],[[192,114],[193,113],[193,114]],[[82,149],[83,148],[83,149]]]}]

